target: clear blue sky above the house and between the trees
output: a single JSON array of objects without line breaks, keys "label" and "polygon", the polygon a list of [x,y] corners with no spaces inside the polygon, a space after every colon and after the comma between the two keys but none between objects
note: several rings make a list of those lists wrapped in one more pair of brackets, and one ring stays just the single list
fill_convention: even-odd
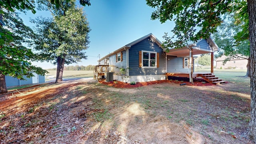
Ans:
[{"label": "clear blue sky above the house and between the trees", "polygon": [[[102,58],[122,46],[137,40],[147,34],[154,34],[163,41],[164,32],[170,32],[174,22],[161,24],[159,20],[151,20],[153,8],[147,6],[144,0],[90,0],[91,6],[84,7],[91,28],[89,33],[90,44],[86,50],[87,60],[78,62],[78,65],[97,65],[99,55]],[[24,23],[32,26],[29,18],[36,16],[50,17],[50,12],[37,11],[36,14],[27,12],[21,14]],[[56,68],[50,63],[33,63],[42,68]],[[76,64],[70,64],[76,65]],[[67,65],[65,65],[67,66]]]}]

